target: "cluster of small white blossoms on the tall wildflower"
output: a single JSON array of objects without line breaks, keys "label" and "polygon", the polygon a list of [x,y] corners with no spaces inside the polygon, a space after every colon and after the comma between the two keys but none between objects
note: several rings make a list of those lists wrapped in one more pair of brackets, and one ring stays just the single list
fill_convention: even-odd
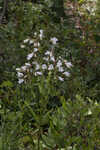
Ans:
[{"label": "cluster of small white blossoms on the tall wildflower", "polygon": [[[34,33],[37,35],[37,33]],[[39,34],[40,40],[43,39],[43,30],[40,30]],[[40,42],[36,42],[35,40],[25,39],[25,43],[33,44],[33,51],[27,55],[27,63],[25,63],[21,68],[16,68],[18,83],[23,83],[28,74],[31,73],[34,76],[42,76],[45,73],[52,72],[54,78],[59,81],[64,81],[66,77],[70,76],[69,69],[72,67],[71,62],[64,60],[62,57],[56,58],[54,56],[54,49],[46,50],[43,54],[42,60],[38,59],[40,57],[39,49]],[[56,45],[58,39],[56,37],[52,37],[50,39],[52,45]],[[34,60],[34,61],[33,61]]]}]

